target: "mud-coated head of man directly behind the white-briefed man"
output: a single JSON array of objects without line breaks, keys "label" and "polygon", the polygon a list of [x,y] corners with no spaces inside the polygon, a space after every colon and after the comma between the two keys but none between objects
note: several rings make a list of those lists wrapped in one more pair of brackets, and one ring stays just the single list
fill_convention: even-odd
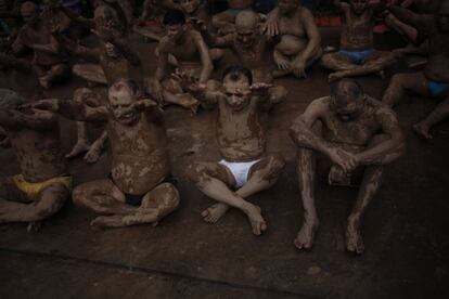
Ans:
[{"label": "mud-coated head of man directly behind the white-briefed man", "polygon": [[259,35],[259,16],[253,11],[243,11],[235,17],[236,39],[251,48]]}]

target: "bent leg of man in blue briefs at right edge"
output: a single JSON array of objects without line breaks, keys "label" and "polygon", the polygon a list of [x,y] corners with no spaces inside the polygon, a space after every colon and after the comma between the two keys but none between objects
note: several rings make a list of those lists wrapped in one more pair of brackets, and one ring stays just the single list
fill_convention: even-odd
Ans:
[{"label": "bent leg of man in blue briefs at right edge", "polygon": [[382,102],[388,107],[394,107],[403,98],[406,91],[412,91],[422,95],[429,95],[427,79],[423,73],[397,74],[393,76]]}]

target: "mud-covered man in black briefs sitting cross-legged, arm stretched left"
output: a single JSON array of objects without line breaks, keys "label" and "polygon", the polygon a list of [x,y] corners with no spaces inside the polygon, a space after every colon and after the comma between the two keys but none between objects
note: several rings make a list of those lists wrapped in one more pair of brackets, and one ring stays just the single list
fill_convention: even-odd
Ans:
[{"label": "mud-covered man in black briefs sitting cross-legged, arm stretched left", "polygon": [[179,193],[170,181],[163,116],[155,102],[138,100],[138,95],[137,84],[123,79],[110,88],[106,106],[92,108],[61,100],[33,105],[70,119],[106,125],[111,176],[79,185],[73,193],[75,204],[104,214],[91,222],[93,227],[156,224],[179,205]]}]

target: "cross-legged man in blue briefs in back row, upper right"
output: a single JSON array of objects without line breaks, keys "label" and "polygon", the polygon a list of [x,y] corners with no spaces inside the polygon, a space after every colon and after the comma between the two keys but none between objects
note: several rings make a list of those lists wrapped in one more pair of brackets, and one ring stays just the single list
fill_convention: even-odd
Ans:
[{"label": "cross-legged man in blue briefs in back row, upper right", "polygon": [[335,70],[329,75],[329,81],[347,77],[364,76],[383,70],[397,61],[399,54],[374,50],[373,27],[376,10],[385,6],[385,1],[371,3],[370,0],[334,0],[344,13],[341,50],[322,56],[323,66]]}]

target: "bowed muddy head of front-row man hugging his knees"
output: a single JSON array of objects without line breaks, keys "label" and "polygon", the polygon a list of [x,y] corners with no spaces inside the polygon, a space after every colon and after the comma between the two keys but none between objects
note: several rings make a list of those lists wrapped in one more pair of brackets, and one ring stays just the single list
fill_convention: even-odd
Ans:
[{"label": "bowed muddy head of front-row man hugging his knees", "polygon": [[331,109],[343,121],[357,119],[363,109],[367,95],[354,80],[343,79],[331,87]]}]

